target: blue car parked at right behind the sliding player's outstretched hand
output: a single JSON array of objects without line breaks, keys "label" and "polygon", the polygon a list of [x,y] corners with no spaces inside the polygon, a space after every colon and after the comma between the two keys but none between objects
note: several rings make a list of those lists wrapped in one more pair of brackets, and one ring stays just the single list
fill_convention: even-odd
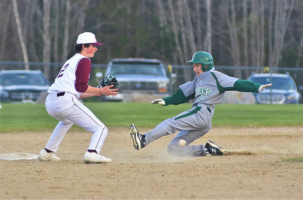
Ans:
[{"label": "blue car parked at right behind the sliding player's outstretched hand", "polygon": [[253,93],[257,103],[292,103],[298,104],[301,101],[301,94],[297,91],[295,81],[286,74],[252,74],[248,78],[253,82],[265,85],[272,83],[272,86],[261,93]]}]

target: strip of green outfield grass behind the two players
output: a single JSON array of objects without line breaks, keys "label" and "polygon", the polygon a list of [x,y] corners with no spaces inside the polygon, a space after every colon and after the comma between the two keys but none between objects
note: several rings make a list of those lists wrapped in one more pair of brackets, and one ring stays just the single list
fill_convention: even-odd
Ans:
[{"label": "strip of green outfield grass behind the two players", "polygon": [[[150,103],[86,102],[91,111],[108,127],[152,128],[163,120],[191,107],[190,103],[162,107]],[[7,104],[0,109],[0,131],[51,131],[58,120],[51,117],[44,104]],[[303,126],[302,105],[232,105],[216,106],[213,127]],[[79,127],[73,126],[77,129]]]}]

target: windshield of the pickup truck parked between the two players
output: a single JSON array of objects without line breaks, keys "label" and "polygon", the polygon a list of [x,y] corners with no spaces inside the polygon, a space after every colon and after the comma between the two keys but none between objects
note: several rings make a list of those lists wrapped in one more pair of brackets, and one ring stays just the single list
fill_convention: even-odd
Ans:
[{"label": "windshield of the pickup truck parked between the two players", "polygon": [[157,63],[113,63],[110,74],[148,74],[164,76]]}]

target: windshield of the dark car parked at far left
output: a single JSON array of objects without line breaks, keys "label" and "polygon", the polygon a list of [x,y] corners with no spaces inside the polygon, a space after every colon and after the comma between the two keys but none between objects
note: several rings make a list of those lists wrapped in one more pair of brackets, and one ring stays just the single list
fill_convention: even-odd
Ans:
[{"label": "windshield of the dark car parked at far left", "polygon": [[45,79],[41,74],[28,73],[12,73],[2,74],[0,77],[0,85],[47,85]]}]

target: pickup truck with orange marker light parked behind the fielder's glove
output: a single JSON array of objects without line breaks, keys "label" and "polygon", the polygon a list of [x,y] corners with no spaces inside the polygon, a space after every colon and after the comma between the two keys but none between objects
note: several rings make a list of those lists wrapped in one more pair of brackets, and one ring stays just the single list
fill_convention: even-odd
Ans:
[{"label": "pickup truck with orange marker light parked behind the fielder's glove", "polygon": [[[157,59],[112,59],[105,75],[116,75],[120,85],[119,94],[114,98],[105,96],[107,101],[123,101],[130,93],[169,95],[171,82],[176,74],[166,75],[163,63]],[[102,78],[102,73],[96,77]]]}]

